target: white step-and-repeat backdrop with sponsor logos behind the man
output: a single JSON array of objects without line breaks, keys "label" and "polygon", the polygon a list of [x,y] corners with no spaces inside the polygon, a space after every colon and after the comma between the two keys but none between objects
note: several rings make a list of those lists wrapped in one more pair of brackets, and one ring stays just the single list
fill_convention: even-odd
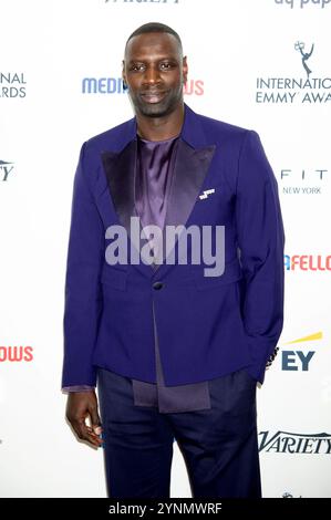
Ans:
[{"label": "white step-and-repeat backdrop with sponsor logos behind the man", "polygon": [[[182,37],[186,103],[259,133],[286,228],[286,320],[258,389],[265,497],[331,497],[331,0],[0,0],[0,496],[105,497],[61,392],[73,176],[133,116],[127,37]],[[172,497],[190,497],[176,443]],[[238,476],[240,478],[240,476]]]}]

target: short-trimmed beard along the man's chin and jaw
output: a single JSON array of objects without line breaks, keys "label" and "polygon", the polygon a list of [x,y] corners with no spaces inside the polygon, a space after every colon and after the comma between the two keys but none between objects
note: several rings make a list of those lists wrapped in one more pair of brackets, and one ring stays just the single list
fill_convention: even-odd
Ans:
[{"label": "short-trimmed beard along the man's chin and jaw", "polygon": [[131,92],[128,93],[135,111],[146,117],[164,117],[174,112],[183,101],[183,85],[168,91],[158,103],[147,103],[139,94],[132,95]]}]

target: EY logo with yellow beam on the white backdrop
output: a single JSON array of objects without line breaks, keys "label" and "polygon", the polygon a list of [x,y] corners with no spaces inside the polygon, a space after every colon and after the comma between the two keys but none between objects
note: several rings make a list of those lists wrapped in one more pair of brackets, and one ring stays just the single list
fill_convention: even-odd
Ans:
[{"label": "EY logo with yellow beam on the white backdrop", "polygon": [[316,354],[316,350],[300,349],[300,345],[303,343],[303,346],[306,346],[304,343],[319,341],[322,340],[322,332],[316,332],[314,334],[285,343],[285,345],[296,346],[293,346],[291,350],[282,350],[281,370],[286,372],[308,372],[310,370],[310,362]]}]

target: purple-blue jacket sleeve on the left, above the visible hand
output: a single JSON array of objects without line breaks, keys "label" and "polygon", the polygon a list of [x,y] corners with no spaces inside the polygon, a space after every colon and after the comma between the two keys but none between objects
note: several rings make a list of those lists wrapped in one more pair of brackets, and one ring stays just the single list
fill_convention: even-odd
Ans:
[{"label": "purple-blue jacket sleeve on the left, above the visible hand", "polygon": [[85,147],[84,143],[73,184],[65,275],[62,388],[96,385],[92,356],[102,312],[100,271],[104,258],[104,226],[92,196]]}]

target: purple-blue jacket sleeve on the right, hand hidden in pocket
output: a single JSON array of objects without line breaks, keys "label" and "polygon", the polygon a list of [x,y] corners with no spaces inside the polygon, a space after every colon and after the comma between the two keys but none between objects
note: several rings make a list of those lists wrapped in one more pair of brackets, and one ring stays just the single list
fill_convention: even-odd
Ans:
[{"label": "purple-blue jacket sleeve on the right, hand hidden in pocket", "polygon": [[251,353],[247,371],[260,383],[283,325],[285,231],[278,185],[259,135],[247,131],[236,197],[241,316]]}]

